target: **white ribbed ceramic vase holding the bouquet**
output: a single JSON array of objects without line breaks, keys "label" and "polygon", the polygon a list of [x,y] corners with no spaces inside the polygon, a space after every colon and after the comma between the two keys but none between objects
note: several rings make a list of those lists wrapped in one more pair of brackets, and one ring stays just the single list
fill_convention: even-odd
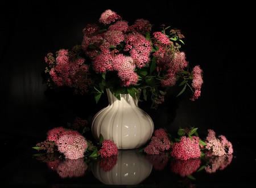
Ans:
[{"label": "white ribbed ceramic vase holding the bouquet", "polygon": [[151,117],[138,106],[138,99],[121,94],[118,100],[106,89],[109,105],[92,119],[92,135],[98,142],[112,140],[118,149],[134,149],[144,146],[154,132]]}]

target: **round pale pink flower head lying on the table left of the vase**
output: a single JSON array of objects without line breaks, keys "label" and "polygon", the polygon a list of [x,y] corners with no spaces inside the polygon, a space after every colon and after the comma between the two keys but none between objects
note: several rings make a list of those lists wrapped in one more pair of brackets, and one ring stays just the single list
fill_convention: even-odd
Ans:
[{"label": "round pale pink flower head lying on the table left of the vase", "polygon": [[64,153],[67,159],[79,159],[84,157],[84,152],[88,144],[79,132],[69,130],[60,135],[56,140],[56,146],[59,152]]}]

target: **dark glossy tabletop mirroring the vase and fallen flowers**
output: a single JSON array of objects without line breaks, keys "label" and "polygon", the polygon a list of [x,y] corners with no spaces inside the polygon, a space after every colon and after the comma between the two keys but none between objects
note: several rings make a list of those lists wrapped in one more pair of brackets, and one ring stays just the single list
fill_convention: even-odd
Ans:
[{"label": "dark glossy tabletop mirroring the vase and fallen flowers", "polygon": [[[23,140],[22,140],[23,139]],[[251,142],[230,139],[234,153],[206,161],[171,160],[119,150],[105,160],[65,160],[31,147],[35,138],[2,138],[1,187],[255,187],[256,155]],[[19,141],[18,141],[19,140]],[[31,147],[30,147],[31,146]],[[201,169],[200,169],[201,168]]]}]

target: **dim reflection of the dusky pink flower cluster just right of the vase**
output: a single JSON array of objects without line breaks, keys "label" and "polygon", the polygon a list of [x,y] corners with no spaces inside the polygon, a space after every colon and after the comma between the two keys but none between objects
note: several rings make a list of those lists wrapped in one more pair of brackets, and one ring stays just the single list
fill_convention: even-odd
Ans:
[{"label": "dim reflection of the dusky pink flower cluster just right of the vase", "polygon": [[163,170],[168,163],[168,154],[161,153],[158,155],[146,155],[145,159],[147,159],[154,167],[155,170]]}]

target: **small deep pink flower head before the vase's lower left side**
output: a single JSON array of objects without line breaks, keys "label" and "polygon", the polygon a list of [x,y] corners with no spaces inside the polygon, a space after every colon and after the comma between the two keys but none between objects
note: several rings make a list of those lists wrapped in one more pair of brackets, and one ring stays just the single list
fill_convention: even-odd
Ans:
[{"label": "small deep pink flower head before the vase's lower left side", "polygon": [[98,151],[98,155],[101,157],[110,157],[113,155],[117,155],[118,148],[117,145],[112,140],[104,140],[102,142],[102,146]]}]

